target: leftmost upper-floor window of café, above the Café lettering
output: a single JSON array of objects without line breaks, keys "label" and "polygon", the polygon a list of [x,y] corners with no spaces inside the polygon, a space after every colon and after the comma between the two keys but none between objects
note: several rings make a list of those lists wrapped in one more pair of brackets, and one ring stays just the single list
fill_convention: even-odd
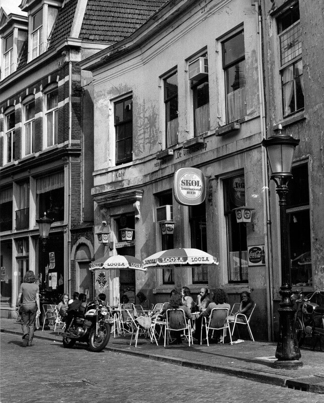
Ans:
[{"label": "leftmost upper-floor window of caf\u00e9, above the Caf\u00e9 lettering", "polygon": [[132,97],[115,102],[116,165],[133,159]]}]

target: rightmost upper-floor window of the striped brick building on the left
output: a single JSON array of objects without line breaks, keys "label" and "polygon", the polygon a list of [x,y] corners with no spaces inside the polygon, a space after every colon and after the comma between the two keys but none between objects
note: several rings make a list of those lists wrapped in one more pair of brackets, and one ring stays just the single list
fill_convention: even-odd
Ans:
[{"label": "rightmost upper-floor window of the striped brick building on the left", "polygon": [[58,143],[58,89],[46,95],[46,147]]}]

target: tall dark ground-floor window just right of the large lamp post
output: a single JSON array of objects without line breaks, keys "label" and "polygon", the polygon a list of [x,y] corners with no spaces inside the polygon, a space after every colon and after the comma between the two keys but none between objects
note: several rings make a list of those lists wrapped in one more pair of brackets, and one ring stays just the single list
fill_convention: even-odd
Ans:
[{"label": "tall dark ground-floor window just right of the large lamp post", "polygon": [[291,283],[297,287],[312,286],[307,164],[297,165],[291,172],[287,194]]}]

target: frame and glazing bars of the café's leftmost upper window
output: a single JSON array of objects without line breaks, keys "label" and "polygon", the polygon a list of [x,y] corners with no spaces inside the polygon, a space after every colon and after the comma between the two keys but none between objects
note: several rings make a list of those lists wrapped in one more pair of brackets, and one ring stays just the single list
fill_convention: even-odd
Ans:
[{"label": "frame and glazing bars of the caf\u00e9's leftmost upper window", "polygon": [[[132,112],[131,117],[124,119],[124,113],[123,113],[123,120],[116,123],[116,106],[120,105],[122,103],[124,105],[123,106],[123,111],[124,111],[126,108],[125,103],[128,101],[131,101],[130,102],[131,112]],[[127,125],[129,125],[130,123],[131,123],[131,136],[127,136],[127,137],[124,136],[123,139],[117,140],[118,131],[119,131],[118,128],[122,127],[122,126],[124,128],[126,128]],[[133,135],[133,94],[128,94],[127,96],[114,100],[114,131],[115,131],[115,165],[117,166],[117,165],[126,164],[128,162],[132,162],[133,161],[133,139],[134,139],[134,135]],[[131,150],[130,156],[127,157],[126,150],[125,150],[124,158],[118,159],[119,144],[121,144],[122,142],[124,144],[126,144],[127,140],[129,140],[129,139],[131,139],[131,144],[132,144],[132,150]]]}]

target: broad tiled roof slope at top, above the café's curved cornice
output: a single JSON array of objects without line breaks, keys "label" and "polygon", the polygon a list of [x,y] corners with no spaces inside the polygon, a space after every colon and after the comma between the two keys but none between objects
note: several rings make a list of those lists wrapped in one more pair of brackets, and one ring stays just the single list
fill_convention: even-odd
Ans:
[{"label": "broad tiled roof slope at top, above the caf\u00e9's curved cornice", "polygon": [[88,0],[80,38],[86,41],[115,43],[146,22],[166,1]]}]

